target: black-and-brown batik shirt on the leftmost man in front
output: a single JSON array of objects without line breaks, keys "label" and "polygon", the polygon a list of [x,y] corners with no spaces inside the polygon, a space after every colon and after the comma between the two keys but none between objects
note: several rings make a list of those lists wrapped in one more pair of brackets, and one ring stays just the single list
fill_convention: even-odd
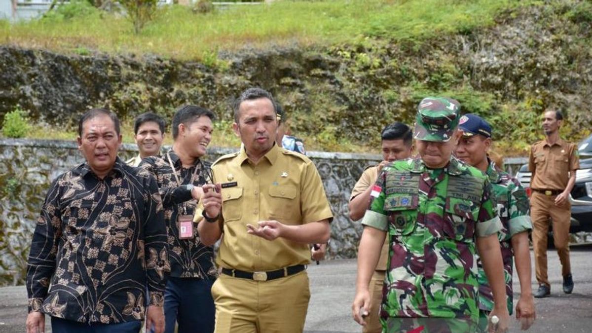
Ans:
[{"label": "black-and-brown batik shirt on the leftmost man in front", "polygon": [[146,289],[150,305],[163,306],[165,232],[149,172],[117,158],[102,180],[86,163],[60,175],[33,235],[29,312],[85,323],[143,319]]}]

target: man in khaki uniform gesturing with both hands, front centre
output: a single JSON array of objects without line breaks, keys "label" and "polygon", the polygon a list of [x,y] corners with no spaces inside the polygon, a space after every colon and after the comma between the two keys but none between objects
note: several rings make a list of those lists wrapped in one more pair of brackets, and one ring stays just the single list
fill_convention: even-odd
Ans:
[{"label": "man in khaki uniform gesturing with both hands, front centre", "polygon": [[204,244],[223,236],[222,274],[212,287],[215,332],[302,332],[310,299],[308,244],[329,239],[329,201],[313,162],[275,144],[269,92],[244,91],[234,121],[244,149],[212,165],[216,184],[204,185],[198,225]]}]

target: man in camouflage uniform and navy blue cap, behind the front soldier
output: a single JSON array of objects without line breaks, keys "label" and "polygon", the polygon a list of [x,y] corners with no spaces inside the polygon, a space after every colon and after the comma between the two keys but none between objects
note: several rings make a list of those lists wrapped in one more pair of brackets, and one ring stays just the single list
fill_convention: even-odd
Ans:
[{"label": "man in camouflage uniform and navy blue cap, behind the front soldier", "polygon": [[[493,186],[497,201],[497,213],[502,229],[498,232],[501,257],[506,277],[507,306],[510,315],[513,308],[512,274],[514,257],[520,280],[520,299],[516,304],[516,318],[522,329],[528,329],[535,319],[535,302],[530,286],[530,251],[528,233],[532,230],[529,216],[529,202],[520,182],[502,171],[491,161],[488,151],[491,147],[491,126],[475,114],[466,114],[459,121],[462,138],[456,146],[455,156],[472,167],[485,172]],[[479,281],[480,329],[487,327],[487,316],[493,309],[493,294],[485,277],[482,262],[477,258]]]}]

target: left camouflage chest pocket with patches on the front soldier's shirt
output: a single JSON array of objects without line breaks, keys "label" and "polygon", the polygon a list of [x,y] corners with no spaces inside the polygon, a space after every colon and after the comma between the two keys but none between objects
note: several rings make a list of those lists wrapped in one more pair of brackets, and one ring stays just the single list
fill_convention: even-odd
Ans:
[{"label": "left camouflage chest pocket with patches on the front soldier's shirt", "polygon": [[410,235],[416,226],[419,196],[391,194],[384,200],[390,235]]}]

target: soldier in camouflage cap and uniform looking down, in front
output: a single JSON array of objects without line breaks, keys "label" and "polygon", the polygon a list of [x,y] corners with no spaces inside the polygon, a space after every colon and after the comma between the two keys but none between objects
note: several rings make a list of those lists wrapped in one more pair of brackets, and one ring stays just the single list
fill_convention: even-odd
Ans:
[{"label": "soldier in camouflage cap and uniform looking down, in front", "polygon": [[[460,105],[426,97],[414,138],[419,156],[383,168],[374,185],[358,251],[352,315],[365,325],[368,282],[381,242],[390,240],[382,296],[383,332],[472,332],[477,328],[477,246],[493,289],[491,316],[507,330],[509,314],[497,232],[501,222],[491,184],[481,171],[452,156]],[[477,237],[475,237],[477,236]],[[476,240],[475,240],[476,239]]]}]

